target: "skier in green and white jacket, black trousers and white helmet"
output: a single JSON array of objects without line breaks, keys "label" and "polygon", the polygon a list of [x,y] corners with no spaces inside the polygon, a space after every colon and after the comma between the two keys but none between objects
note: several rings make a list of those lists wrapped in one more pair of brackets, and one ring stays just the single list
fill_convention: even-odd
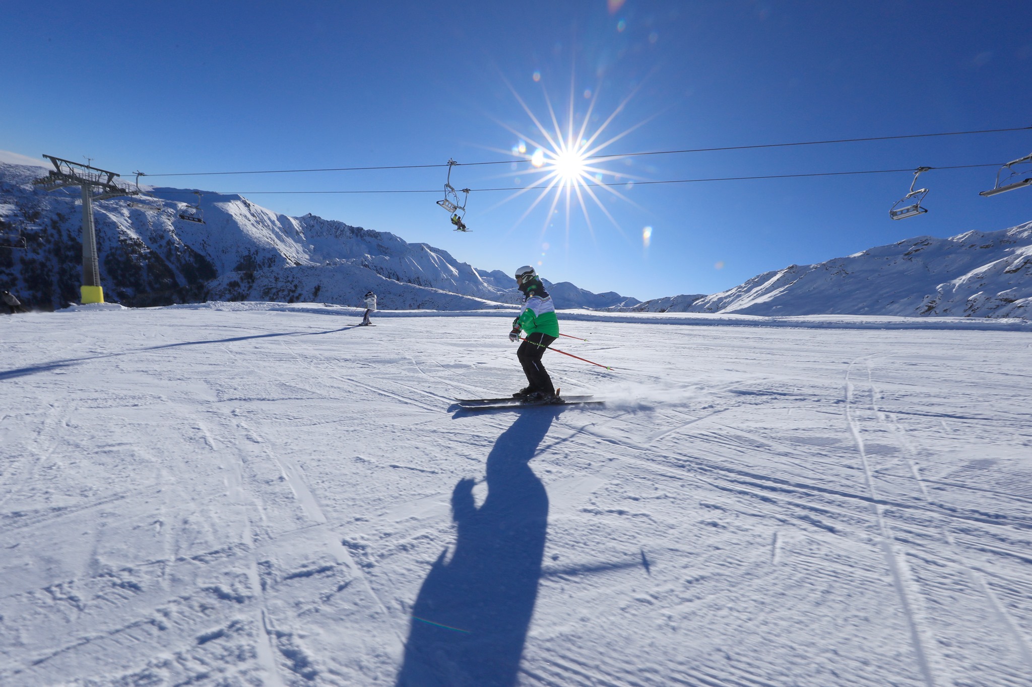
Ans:
[{"label": "skier in green and white jacket, black trousers and white helmet", "polygon": [[559,336],[559,320],[555,316],[555,306],[538,273],[529,265],[516,270],[516,283],[523,294],[523,309],[513,320],[509,340],[519,341],[520,332],[526,332],[526,338],[520,344],[516,355],[523,366],[523,373],[528,383],[513,396],[528,401],[551,401],[556,398],[555,387],[541,363],[541,357]]}]

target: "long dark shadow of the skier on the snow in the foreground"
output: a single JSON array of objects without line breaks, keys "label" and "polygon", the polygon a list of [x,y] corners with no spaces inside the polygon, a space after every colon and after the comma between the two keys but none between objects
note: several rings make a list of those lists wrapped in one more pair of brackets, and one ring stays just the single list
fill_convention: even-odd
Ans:
[{"label": "long dark shadow of the skier on the snow in the foreground", "polygon": [[516,684],[548,526],[548,494],[528,465],[560,409],[520,415],[487,456],[487,497],[474,480],[452,492],[458,527],[412,608],[396,687],[510,687]]}]

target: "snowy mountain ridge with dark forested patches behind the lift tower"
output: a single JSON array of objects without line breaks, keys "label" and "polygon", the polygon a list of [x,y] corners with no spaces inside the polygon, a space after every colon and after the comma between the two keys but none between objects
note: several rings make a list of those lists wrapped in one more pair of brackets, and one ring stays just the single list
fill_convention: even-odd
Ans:
[{"label": "snowy mountain ridge with dark forested patches behind the lift tower", "polygon": [[[77,302],[82,265],[78,190],[44,193],[37,167],[0,164],[0,231],[23,231],[27,250],[0,248],[0,283],[37,307]],[[381,307],[471,309],[514,304],[516,282],[447,251],[312,214],[290,217],[240,196],[204,193],[205,224],[183,220],[178,188],[95,204],[101,281],[131,306],[213,300],[321,301],[358,305],[373,288]],[[513,268],[516,265],[512,266]],[[563,308],[637,303],[570,284]]]}]

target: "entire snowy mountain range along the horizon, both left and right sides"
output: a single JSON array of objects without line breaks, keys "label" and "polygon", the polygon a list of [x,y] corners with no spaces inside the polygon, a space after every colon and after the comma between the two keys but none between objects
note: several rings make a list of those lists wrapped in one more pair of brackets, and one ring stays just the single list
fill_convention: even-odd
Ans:
[{"label": "entire snowy mountain range along the horizon, both left and right sides", "polygon": [[[76,190],[32,185],[40,169],[0,163],[0,283],[35,307],[78,299]],[[386,309],[477,310],[519,302],[515,281],[426,243],[307,214],[276,213],[237,195],[204,193],[206,224],[183,220],[193,192],[152,188],[95,205],[101,278],[130,306],[218,301],[358,305],[373,289]],[[645,303],[546,281],[558,307],[636,312],[1019,317],[1032,303],[1032,222],[997,232],[921,236],[814,265],[789,265],[718,294]]]}]

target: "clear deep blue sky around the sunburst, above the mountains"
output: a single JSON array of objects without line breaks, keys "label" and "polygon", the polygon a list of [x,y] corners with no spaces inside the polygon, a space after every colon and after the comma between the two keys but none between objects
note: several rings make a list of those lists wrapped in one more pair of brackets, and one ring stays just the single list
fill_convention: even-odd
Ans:
[{"label": "clear deep blue sky around the sunburst, above the mountains", "polygon": [[[11,0],[0,20],[0,149],[89,156],[130,177],[136,169],[506,160],[502,151],[519,138],[507,126],[537,136],[507,81],[543,123],[545,94],[565,125],[571,92],[579,123],[590,91],[595,127],[630,96],[607,132],[647,123],[606,149],[614,153],[1026,127],[1030,26],[1027,0],[181,1],[93,9]],[[1024,131],[602,166],[665,180],[1003,163],[1030,151],[1032,131]],[[453,184],[510,186],[513,178],[501,176],[509,171],[457,167]],[[509,194],[482,192],[466,206],[467,234],[450,231],[433,195],[253,193],[438,188],[443,168],[150,182],[252,192],[277,211],[393,232],[480,268],[511,272],[540,261],[553,281],[647,299],[713,293],[912,236],[1032,219],[1032,190],[977,195],[994,177],[990,168],[923,175],[930,211],[900,221],[888,210],[909,186],[906,172],[621,187],[630,202],[596,190],[619,229],[590,201],[591,230],[576,201],[569,230],[561,203],[552,221],[543,203],[517,225],[533,192],[497,207]],[[521,174],[520,182],[533,178]]]}]

